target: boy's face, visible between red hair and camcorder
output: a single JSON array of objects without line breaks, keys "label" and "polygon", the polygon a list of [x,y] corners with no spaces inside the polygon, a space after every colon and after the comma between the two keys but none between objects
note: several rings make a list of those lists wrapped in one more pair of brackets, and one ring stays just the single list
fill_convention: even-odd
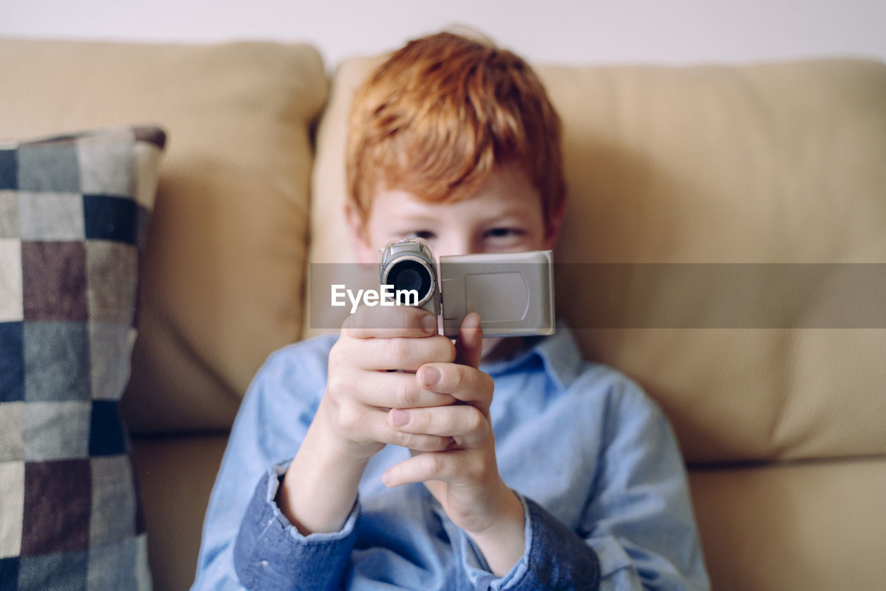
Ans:
[{"label": "boy's face, visible between red hair and camcorder", "polygon": [[553,248],[559,219],[545,224],[538,191],[512,167],[496,168],[477,193],[455,203],[421,201],[400,190],[379,191],[366,224],[348,209],[361,263],[378,263],[392,240],[421,238],[434,256]]}]

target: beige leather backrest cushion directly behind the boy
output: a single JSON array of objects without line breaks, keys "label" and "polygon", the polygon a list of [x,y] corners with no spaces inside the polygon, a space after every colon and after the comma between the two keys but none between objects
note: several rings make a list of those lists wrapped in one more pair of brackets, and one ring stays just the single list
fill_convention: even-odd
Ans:
[{"label": "beige leather backrest cushion directly behind the boy", "polygon": [[[350,260],[346,114],[376,63],[333,83],[313,262]],[[564,130],[558,307],[587,357],[641,382],[689,461],[886,453],[886,66],[538,71]]]}]

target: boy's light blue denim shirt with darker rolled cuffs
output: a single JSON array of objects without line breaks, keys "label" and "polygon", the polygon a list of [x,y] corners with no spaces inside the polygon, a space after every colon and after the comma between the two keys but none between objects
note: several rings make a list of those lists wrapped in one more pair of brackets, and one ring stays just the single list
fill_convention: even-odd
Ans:
[{"label": "boy's light blue denim shirt with darker rolled cuffs", "polygon": [[369,461],[341,531],[301,535],[274,498],[335,338],[277,351],[256,374],[209,501],[194,589],[709,587],[664,415],[624,375],[583,361],[565,328],[481,366],[495,381],[499,470],[525,510],[525,553],[504,577],[424,485],[382,484],[409,457],[393,445]]}]

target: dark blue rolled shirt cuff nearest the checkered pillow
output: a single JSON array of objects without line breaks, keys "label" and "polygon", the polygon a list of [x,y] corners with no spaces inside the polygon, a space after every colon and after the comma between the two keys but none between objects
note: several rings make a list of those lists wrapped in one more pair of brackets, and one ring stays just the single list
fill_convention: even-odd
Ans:
[{"label": "dark blue rolled shirt cuff nearest the checkered pillow", "polygon": [[306,582],[306,589],[335,587],[354,548],[359,500],[338,532],[303,535],[275,501],[286,466],[268,469],[255,487],[234,548],[237,576],[247,588],[276,588],[293,580]]}]

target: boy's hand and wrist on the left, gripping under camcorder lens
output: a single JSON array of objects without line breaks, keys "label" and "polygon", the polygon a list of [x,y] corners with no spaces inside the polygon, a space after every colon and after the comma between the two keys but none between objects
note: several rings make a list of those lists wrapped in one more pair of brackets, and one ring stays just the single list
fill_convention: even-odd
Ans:
[{"label": "boy's hand and wrist on the left, gripping under camcorder lens", "polygon": [[422,451],[452,445],[451,437],[394,429],[387,413],[455,403],[447,393],[419,388],[415,374],[392,371],[454,359],[455,346],[437,334],[437,319],[428,311],[363,306],[349,317],[330,351],[314,421],[277,490],[277,505],[299,532],[341,528],[369,457],[386,444]]}]

